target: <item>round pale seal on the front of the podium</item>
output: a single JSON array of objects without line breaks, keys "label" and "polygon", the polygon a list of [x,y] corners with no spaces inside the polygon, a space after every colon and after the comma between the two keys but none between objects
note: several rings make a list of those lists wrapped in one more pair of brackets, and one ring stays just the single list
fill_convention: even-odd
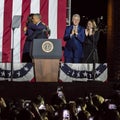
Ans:
[{"label": "round pale seal on the front of the podium", "polygon": [[50,53],[53,51],[54,45],[52,42],[50,41],[45,41],[42,44],[42,50],[46,53]]}]

